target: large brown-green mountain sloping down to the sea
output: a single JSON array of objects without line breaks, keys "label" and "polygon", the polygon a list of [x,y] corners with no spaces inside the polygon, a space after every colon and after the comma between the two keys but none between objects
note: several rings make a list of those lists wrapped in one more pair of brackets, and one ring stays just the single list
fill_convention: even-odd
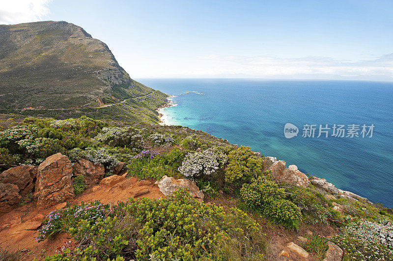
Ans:
[{"label": "large brown-green mountain sloping down to the sea", "polygon": [[131,79],[108,46],[80,26],[0,25],[1,113],[117,119],[126,114],[127,120],[157,122],[155,109],[166,97]]}]

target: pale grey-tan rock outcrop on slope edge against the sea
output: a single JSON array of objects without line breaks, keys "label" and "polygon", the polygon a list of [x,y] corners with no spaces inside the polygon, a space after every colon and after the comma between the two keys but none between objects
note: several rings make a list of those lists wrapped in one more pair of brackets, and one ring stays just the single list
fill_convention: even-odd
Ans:
[{"label": "pale grey-tan rock outcrop on slope edge against the sea", "polygon": [[285,164],[285,161],[279,160],[274,162],[270,167],[270,174],[275,182],[303,187],[307,187],[309,185],[309,178],[306,174],[299,171],[296,165],[289,165],[288,168],[285,168]]}]

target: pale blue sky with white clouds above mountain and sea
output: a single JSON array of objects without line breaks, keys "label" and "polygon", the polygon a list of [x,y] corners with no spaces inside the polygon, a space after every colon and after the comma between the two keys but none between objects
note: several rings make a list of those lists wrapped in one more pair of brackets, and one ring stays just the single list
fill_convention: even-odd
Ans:
[{"label": "pale blue sky with white clouds above mountain and sea", "polygon": [[0,0],[0,24],[66,21],[132,78],[393,81],[392,0]]}]

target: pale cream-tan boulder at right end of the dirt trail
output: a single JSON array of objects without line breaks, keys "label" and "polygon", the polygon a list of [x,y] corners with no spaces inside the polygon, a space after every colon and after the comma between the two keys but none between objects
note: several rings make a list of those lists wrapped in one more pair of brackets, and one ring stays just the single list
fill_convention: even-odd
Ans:
[{"label": "pale cream-tan boulder at right end of the dirt trail", "polygon": [[165,195],[169,196],[178,189],[187,190],[191,196],[193,196],[197,201],[203,202],[204,195],[202,191],[197,187],[195,181],[190,181],[188,179],[178,179],[175,180],[173,177],[164,176],[160,181],[155,184],[158,185],[160,191]]}]

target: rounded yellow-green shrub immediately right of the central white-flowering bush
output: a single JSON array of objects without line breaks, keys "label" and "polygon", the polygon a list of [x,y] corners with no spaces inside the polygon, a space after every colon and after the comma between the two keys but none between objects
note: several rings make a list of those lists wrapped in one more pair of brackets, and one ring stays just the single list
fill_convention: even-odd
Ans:
[{"label": "rounded yellow-green shrub immediately right of the central white-flowering bush", "polygon": [[242,184],[262,174],[262,159],[253,156],[250,147],[230,151],[226,166],[225,181]]}]

